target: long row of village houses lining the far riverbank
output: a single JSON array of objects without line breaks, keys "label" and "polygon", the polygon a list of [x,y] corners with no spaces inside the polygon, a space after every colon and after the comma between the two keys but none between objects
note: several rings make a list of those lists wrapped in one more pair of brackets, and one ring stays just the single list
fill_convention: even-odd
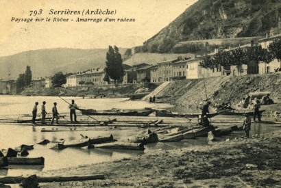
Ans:
[{"label": "long row of village houses lining the far riverbank", "polygon": [[[269,44],[275,40],[281,39],[281,34],[269,38],[258,40],[258,45],[263,49],[267,49]],[[247,49],[254,46],[254,42],[239,46],[239,48]],[[232,51],[227,49],[225,51]],[[210,53],[208,55],[215,55]],[[164,81],[172,81],[177,79],[199,79],[201,77],[219,77],[225,75],[250,75],[250,74],[269,74],[280,68],[280,62],[274,59],[269,64],[260,62],[258,65],[251,64],[242,66],[228,66],[219,68],[203,68],[201,62],[207,55],[194,57],[178,57],[176,59],[158,62],[156,65],[140,63],[134,66],[124,65],[125,75],[117,83],[142,83],[152,82],[159,83]],[[66,84],[64,88],[77,87],[85,85],[108,85],[108,82],[103,81],[105,72],[100,68],[93,68],[84,72],[66,73]],[[51,88],[51,77],[38,78],[32,80],[31,87],[33,88]],[[12,80],[0,80],[0,94],[16,94],[16,82]]]}]

